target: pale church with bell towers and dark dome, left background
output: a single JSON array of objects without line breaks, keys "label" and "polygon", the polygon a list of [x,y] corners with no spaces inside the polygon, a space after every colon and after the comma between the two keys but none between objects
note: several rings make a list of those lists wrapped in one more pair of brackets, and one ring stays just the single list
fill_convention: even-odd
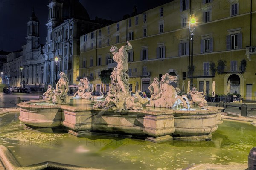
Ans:
[{"label": "pale church with bell towers and dark dome, left background", "polygon": [[22,50],[7,55],[3,64],[4,82],[9,86],[46,88],[48,84],[54,86],[59,73],[65,72],[70,84],[76,84],[80,36],[108,22],[90,20],[79,0],[51,0],[45,45],[39,44],[39,20],[33,11],[27,22],[27,43]]}]

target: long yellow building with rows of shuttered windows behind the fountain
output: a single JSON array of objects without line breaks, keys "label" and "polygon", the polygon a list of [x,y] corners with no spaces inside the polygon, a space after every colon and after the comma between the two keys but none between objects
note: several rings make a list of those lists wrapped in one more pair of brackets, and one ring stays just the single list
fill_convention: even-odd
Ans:
[{"label": "long yellow building with rows of shuttered windows behind the fountain", "polygon": [[[148,91],[155,77],[176,75],[175,86],[187,92],[191,65],[189,16],[196,15],[193,41],[193,83],[207,94],[212,82],[218,95],[237,93],[256,100],[256,1],[251,0],[173,0],[133,15],[80,37],[79,77],[88,77],[99,91],[100,72],[113,69],[111,46],[129,40],[130,89]],[[221,64],[222,63],[222,64]],[[246,66],[245,66],[246,65]],[[183,83],[184,81],[184,83]],[[137,87],[136,87],[137,86]],[[108,91],[108,86],[104,86]]]}]

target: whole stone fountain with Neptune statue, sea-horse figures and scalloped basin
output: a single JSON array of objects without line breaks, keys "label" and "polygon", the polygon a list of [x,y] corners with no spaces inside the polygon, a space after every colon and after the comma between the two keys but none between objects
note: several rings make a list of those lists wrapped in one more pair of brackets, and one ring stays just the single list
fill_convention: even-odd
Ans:
[{"label": "whole stone fountain with Neptune statue, sea-horse figures and scalloped basin", "polygon": [[[204,98],[195,91],[192,101],[186,95],[179,96],[180,89],[170,84],[177,82],[176,76],[166,73],[160,85],[155,78],[149,87],[152,89],[150,101],[142,98],[139,91],[135,95],[130,94],[126,51],[131,48],[128,41],[120,49],[111,47],[117,67],[111,73],[111,85],[104,101],[97,101],[93,107],[68,105],[68,78],[61,72],[56,90],[52,92],[49,87],[46,93],[48,99],[18,104],[19,118],[24,128],[51,133],[65,130],[77,137],[132,136],[154,143],[171,141],[173,138],[184,141],[210,140],[218,124],[223,122],[220,118],[223,108],[207,107]],[[80,79],[74,97],[94,98],[89,85],[86,77]]]}]

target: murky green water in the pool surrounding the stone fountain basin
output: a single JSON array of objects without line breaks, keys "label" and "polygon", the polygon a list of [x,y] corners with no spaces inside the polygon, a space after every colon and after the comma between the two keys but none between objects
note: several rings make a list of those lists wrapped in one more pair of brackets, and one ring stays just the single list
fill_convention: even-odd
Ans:
[{"label": "murky green water in the pool surrounding the stone fountain basin", "polygon": [[20,113],[0,116],[0,142],[22,165],[55,161],[107,170],[181,170],[196,164],[247,164],[256,146],[256,127],[226,121],[212,141],[170,141],[154,144],[124,138],[77,138],[68,133],[23,130]]}]

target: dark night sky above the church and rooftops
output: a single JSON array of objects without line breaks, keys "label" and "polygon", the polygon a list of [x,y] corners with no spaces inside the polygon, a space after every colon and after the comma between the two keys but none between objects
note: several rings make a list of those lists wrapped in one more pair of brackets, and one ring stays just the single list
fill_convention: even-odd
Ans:
[{"label": "dark night sky above the church and rooftops", "polygon": [[[100,17],[110,20],[122,20],[125,14],[131,14],[137,6],[140,13],[171,0],[79,0],[87,10],[90,19]],[[102,2],[102,3],[101,3]],[[27,22],[35,9],[40,22],[40,43],[45,44],[47,36],[49,0],[0,0],[0,50],[16,51],[26,44]]]}]

